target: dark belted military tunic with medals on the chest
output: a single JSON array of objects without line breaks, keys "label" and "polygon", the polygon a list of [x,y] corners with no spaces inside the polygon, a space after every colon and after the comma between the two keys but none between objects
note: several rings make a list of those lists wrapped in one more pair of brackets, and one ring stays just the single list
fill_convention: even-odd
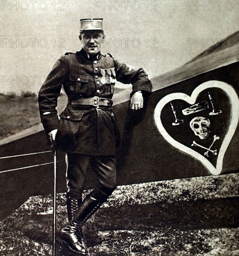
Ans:
[{"label": "dark belted military tunic with medals on the chest", "polygon": [[[119,136],[112,104],[81,105],[80,99],[98,96],[112,99],[115,80],[132,84],[132,94],[151,91],[151,82],[142,68],[119,63],[110,54],[89,56],[83,49],[60,57],[39,92],[41,122],[46,133],[58,129],[57,147],[63,151],[86,155],[115,155]],[[68,104],[57,115],[61,87]]]}]

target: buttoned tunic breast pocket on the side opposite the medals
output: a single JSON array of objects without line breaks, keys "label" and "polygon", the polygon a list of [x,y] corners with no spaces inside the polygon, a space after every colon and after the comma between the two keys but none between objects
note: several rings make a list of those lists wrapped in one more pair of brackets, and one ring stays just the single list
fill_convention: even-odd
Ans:
[{"label": "buttoned tunic breast pocket on the side opposite the medals", "polygon": [[70,74],[70,91],[74,94],[88,94],[89,76],[83,74]]}]

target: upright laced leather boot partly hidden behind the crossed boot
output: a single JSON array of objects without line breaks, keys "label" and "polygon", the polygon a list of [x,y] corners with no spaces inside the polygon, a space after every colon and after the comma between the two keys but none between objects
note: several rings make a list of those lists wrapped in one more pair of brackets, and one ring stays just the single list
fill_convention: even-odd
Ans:
[{"label": "upright laced leather boot partly hidden behind the crossed boot", "polygon": [[[66,198],[66,209],[67,209],[68,222],[72,221],[73,216],[75,215],[76,211],[79,209],[81,202],[82,202],[81,198],[79,199],[79,198],[71,197],[71,196]],[[77,229],[76,236],[77,236],[77,239],[80,242],[80,244],[82,244],[83,247],[87,248],[86,240],[85,240],[85,237],[84,237],[81,227],[79,229]]]}]

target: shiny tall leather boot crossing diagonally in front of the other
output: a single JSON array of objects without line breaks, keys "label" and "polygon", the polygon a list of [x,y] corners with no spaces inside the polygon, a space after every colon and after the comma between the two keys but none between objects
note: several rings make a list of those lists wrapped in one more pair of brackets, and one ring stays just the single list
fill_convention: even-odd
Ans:
[{"label": "shiny tall leather boot crossing diagonally in front of the other", "polygon": [[86,195],[84,201],[80,204],[80,208],[73,216],[73,220],[66,223],[58,232],[57,239],[61,243],[66,243],[74,252],[87,254],[87,250],[83,244],[77,239],[77,230],[100,208],[103,202],[94,199],[90,194]]}]

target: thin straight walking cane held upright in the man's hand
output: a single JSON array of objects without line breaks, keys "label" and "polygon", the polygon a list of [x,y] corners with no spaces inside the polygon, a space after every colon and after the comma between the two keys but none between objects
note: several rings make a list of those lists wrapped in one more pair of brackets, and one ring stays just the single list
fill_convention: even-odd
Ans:
[{"label": "thin straight walking cane held upright in the man's hand", "polygon": [[54,194],[53,194],[53,228],[52,228],[52,255],[56,255],[56,145],[52,140],[52,151],[54,155]]}]

